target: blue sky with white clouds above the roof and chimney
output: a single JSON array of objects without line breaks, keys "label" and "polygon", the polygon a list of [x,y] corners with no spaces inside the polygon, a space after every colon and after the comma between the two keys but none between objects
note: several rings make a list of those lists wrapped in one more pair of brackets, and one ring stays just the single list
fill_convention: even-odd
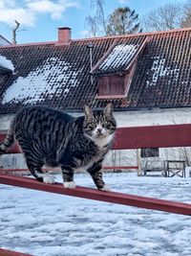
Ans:
[{"label": "blue sky with white clouds above the roof and chimney", "polygon": [[[180,0],[105,0],[109,15],[117,7],[128,6],[141,16],[167,3]],[[11,40],[16,19],[21,23],[18,43],[55,41],[58,27],[72,28],[73,38],[87,37],[85,17],[94,14],[91,0],[0,0],[0,35]]]}]

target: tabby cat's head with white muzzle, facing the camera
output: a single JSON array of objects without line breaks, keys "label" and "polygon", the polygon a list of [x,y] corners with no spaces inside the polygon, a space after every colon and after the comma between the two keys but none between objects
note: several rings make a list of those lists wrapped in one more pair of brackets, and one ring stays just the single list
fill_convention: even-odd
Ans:
[{"label": "tabby cat's head with white muzzle, facing the camera", "polygon": [[117,128],[113,111],[114,107],[112,104],[106,105],[103,110],[92,110],[89,106],[85,105],[83,126],[85,133],[93,139],[103,138],[113,134]]}]

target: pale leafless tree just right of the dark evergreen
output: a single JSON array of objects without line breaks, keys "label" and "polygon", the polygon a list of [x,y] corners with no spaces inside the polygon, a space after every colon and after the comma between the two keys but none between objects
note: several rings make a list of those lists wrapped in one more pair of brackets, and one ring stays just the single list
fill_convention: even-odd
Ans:
[{"label": "pale leafless tree just right of the dark evergreen", "polygon": [[142,17],[144,31],[165,31],[180,28],[182,5],[168,3]]}]

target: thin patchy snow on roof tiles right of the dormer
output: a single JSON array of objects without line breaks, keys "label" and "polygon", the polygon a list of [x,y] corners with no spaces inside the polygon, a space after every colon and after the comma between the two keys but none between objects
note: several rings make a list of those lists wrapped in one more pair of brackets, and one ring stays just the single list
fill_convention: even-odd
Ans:
[{"label": "thin patchy snow on roof tiles right of the dormer", "polygon": [[161,77],[172,75],[174,80],[178,79],[180,69],[178,69],[178,68],[172,69],[169,66],[166,66],[165,62],[166,62],[165,58],[159,58],[159,57],[154,58],[153,65],[150,70],[153,73],[153,76],[149,76],[149,77],[151,77],[151,80],[146,81],[147,88],[149,86],[155,86],[157,84],[157,81]]}]

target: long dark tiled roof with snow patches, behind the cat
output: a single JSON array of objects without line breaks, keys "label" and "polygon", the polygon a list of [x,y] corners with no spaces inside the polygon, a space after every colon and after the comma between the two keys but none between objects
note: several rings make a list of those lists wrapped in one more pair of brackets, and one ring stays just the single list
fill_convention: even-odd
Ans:
[{"label": "long dark tiled roof with snow patches, behind the cat", "polygon": [[[138,49],[146,44],[138,54]],[[93,50],[93,79],[89,43]],[[137,35],[117,35],[0,47],[0,56],[14,66],[11,77],[0,84],[0,112],[23,105],[49,105],[58,109],[102,107],[116,109],[191,105],[191,29]],[[102,73],[124,71],[138,58],[126,98],[96,99]]]}]

